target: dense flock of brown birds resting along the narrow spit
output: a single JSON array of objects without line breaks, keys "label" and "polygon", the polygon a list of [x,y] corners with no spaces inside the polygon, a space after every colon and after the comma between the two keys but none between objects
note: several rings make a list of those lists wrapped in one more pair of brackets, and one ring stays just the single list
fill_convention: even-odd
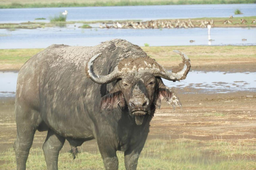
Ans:
[{"label": "dense flock of brown birds resting along the narrow spit", "polygon": [[192,21],[189,19],[188,21],[159,21],[159,20],[151,20],[146,22],[126,22],[126,23],[113,23],[112,25],[99,25],[99,28],[134,28],[134,29],[160,29],[160,28],[194,28],[194,27],[200,27],[200,28],[206,28],[208,25],[213,26],[214,21],[201,21],[200,25],[195,25],[192,23]]}]

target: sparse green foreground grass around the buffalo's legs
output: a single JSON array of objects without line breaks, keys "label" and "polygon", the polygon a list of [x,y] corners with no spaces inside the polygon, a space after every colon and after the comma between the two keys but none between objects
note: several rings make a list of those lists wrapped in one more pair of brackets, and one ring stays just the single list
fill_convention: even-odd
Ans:
[{"label": "sparse green foreground grass around the buffalo's legs", "polygon": [[[86,144],[83,144],[86,147]],[[253,140],[228,142],[221,139],[210,141],[180,138],[176,140],[148,140],[140,155],[138,170],[250,170],[256,166]],[[118,152],[119,169],[124,170],[123,152]],[[16,168],[12,149],[0,153],[0,169]],[[98,152],[81,152],[73,160],[69,153],[59,156],[59,169],[103,170],[103,161]],[[41,148],[32,148],[27,162],[28,169],[46,169]]]}]

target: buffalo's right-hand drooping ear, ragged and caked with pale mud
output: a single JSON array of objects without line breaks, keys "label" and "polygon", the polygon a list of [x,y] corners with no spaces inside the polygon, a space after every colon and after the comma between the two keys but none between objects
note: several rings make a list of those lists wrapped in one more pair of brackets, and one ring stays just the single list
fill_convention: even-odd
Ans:
[{"label": "buffalo's right-hand drooping ear, ragged and caked with pale mud", "polygon": [[156,101],[157,108],[161,107],[162,100],[165,100],[167,104],[172,105],[174,110],[176,107],[182,107],[180,99],[177,97],[175,92],[166,86],[165,88],[159,88],[158,99]]}]

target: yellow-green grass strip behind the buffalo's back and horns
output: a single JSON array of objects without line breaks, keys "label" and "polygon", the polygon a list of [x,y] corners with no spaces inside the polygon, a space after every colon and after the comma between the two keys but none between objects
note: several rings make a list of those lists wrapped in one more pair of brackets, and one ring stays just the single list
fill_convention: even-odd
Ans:
[{"label": "yellow-green grass strip behind the buffalo's back and horns", "polygon": [[[256,63],[255,46],[145,46],[142,49],[166,67],[176,66],[181,61],[180,57],[172,52],[174,49],[187,54],[193,67]],[[25,61],[42,50],[43,48],[0,49],[0,68],[18,70]]]}]

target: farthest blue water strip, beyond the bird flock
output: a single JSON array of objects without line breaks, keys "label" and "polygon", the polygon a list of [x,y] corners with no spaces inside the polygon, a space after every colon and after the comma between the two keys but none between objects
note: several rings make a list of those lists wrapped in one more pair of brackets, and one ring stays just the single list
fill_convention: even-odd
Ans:
[{"label": "farthest blue water strip, beyond the bird flock", "polygon": [[[234,15],[236,9],[243,14]],[[20,23],[34,21],[35,18],[49,20],[65,10],[68,11],[67,21],[256,16],[256,4],[20,8],[0,9],[0,23]]]}]

